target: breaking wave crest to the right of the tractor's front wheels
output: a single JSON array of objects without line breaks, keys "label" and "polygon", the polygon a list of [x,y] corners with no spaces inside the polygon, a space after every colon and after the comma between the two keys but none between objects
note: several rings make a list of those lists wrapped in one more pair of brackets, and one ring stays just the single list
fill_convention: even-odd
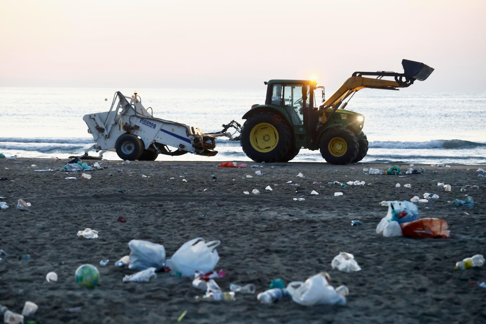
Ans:
[{"label": "breaking wave crest to the right of the tractor's front wheels", "polygon": [[486,146],[486,143],[476,143],[463,140],[431,140],[427,142],[399,142],[399,141],[373,141],[369,147],[380,148],[471,148]]}]

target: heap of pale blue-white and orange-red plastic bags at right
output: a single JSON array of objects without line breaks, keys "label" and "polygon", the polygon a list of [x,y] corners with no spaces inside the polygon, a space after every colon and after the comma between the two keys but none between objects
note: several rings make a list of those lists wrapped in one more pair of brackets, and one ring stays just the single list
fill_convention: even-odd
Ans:
[{"label": "heap of pale blue-white and orange-red plastic bags at right", "polygon": [[[386,203],[385,201],[382,202]],[[448,238],[448,224],[444,219],[417,219],[417,205],[410,201],[388,202],[388,213],[376,227],[376,233],[385,237],[411,236]]]}]

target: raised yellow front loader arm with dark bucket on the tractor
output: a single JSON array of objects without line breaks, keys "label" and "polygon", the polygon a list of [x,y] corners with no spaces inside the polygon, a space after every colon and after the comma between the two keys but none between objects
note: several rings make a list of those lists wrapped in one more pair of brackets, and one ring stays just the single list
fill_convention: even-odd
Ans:
[{"label": "raised yellow front loader arm with dark bucket on the tractor", "polygon": [[[326,123],[338,108],[344,109],[349,100],[340,107],[343,101],[349,96],[352,97],[358,90],[364,88],[399,90],[397,88],[407,88],[412,85],[415,80],[423,81],[427,79],[434,71],[433,68],[420,62],[403,59],[401,64],[404,70],[403,73],[386,71],[354,72],[353,75],[348,78],[322,106],[319,107],[319,123]],[[367,78],[363,77],[363,75],[374,75],[376,78]],[[394,77],[395,80],[383,80],[382,77],[384,76]],[[349,97],[349,99],[351,99],[351,97]],[[329,111],[329,109],[331,110]]]}]

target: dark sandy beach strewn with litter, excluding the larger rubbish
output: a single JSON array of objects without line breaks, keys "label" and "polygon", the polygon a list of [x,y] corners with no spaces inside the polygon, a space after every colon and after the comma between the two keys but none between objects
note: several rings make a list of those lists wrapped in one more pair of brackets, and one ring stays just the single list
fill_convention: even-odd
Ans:
[{"label": "dark sandy beach strewn with litter, excluding the larger rubbish", "polygon": [[[486,178],[478,178],[478,166],[423,165],[424,174],[399,177],[364,175],[363,168],[392,165],[380,163],[290,162],[257,169],[218,168],[214,162],[102,161],[108,168],[88,172],[88,180],[81,173],[34,172],[61,168],[67,160],[15,162],[23,163],[0,159],[0,177],[8,178],[0,181],[0,196],[6,197],[0,201],[10,206],[0,211],[0,249],[8,254],[0,255],[0,304],[20,313],[25,301],[35,302],[37,324],[170,323],[185,310],[181,323],[486,322],[486,290],[470,284],[486,280],[486,267],[454,270],[455,262],[486,252]],[[403,171],[409,167],[397,166]],[[258,170],[266,175],[256,176]],[[305,178],[296,177],[299,172]],[[290,186],[289,180],[300,186]],[[328,184],[334,180],[366,184],[341,189]],[[437,182],[450,184],[452,191],[445,192]],[[407,183],[412,187],[404,188]],[[266,191],[267,185],[273,191]],[[260,195],[251,194],[253,189]],[[309,196],[312,190],[319,195]],[[344,195],[334,197],[335,192]],[[418,204],[419,218],[445,219],[449,239],[376,234],[387,212],[380,201],[422,198],[426,192],[439,199]],[[301,195],[305,201],[293,200]],[[464,195],[476,205],[449,202]],[[18,198],[32,204],[30,211],[16,209]],[[118,216],[126,223],[118,222]],[[353,219],[362,225],[350,226]],[[99,237],[76,236],[87,227],[99,231]],[[347,305],[305,307],[292,300],[260,305],[256,295],[240,294],[232,302],[197,303],[193,297],[201,291],[191,286],[191,279],[159,272],[148,283],[123,283],[123,276],[135,271],[114,267],[129,254],[132,239],[163,244],[170,257],[195,237],[221,240],[216,268],[226,271],[226,278],[218,280],[226,291],[230,283],[253,283],[261,292],[275,278],[304,281],[328,271],[331,285],[349,288]],[[332,270],[331,260],[339,252],[354,254],[362,270]],[[30,259],[19,260],[24,254]],[[106,267],[99,265],[103,259],[109,259]],[[74,280],[74,271],[84,263],[101,273],[95,289],[80,288]],[[46,281],[50,271],[58,274],[56,283]],[[81,310],[73,312],[73,307]]]}]

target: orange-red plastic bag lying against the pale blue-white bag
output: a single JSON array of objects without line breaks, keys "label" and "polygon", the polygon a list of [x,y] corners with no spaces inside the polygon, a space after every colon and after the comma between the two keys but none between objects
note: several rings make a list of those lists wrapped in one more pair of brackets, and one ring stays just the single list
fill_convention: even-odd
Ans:
[{"label": "orange-red plastic bag lying against the pale blue-white bag", "polygon": [[401,223],[403,236],[449,238],[447,222],[439,218],[421,218],[407,223]]}]

